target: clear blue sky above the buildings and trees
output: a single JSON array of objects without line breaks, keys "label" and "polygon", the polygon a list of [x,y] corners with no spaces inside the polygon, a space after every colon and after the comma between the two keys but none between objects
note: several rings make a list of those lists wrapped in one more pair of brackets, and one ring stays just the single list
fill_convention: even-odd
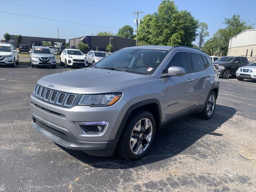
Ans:
[{"label": "clear blue sky above the buildings and trees", "polygon": [[[96,35],[99,31],[107,30],[116,33],[125,24],[135,29],[135,16],[132,12],[142,10],[144,12],[140,14],[142,18],[145,14],[156,12],[160,2],[161,0],[0,0],[0,11],[108,27],[70,24],[1,12],[0,38],[3,38],[5,32],[14,35],[57,38],[57,27],[59,27],[59,37],[67,40]],[[210,36],[224,27],[222,24],[224,18],[230,18],[233,14],[240,14],[242,20],[254,24],[255,28],[255,0],[178,0],[174,2],[178,10],[188,10],[200,22],[206,22]]]}]

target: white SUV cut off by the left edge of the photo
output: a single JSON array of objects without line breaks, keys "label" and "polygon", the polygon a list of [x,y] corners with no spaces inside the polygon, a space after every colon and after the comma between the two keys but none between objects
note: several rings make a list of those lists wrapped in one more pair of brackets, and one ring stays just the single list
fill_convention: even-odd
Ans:
[{"label": "white SUV cut off by the left edge of the photo", "polygon": [[16,48],[10,43],[0,43],[0,65],[15,67],[16,64],[19,64]]}]

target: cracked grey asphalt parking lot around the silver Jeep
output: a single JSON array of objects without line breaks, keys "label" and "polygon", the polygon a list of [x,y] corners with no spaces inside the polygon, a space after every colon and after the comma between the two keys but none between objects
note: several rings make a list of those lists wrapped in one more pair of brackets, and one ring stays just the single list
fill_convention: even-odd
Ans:
[{"label": "cracked grey asphalt parking lot around the silver Jeep", "polygon": [[0,191],[255,191],[256,83],[220,79],[215,114],[190,115],[158,132],[137,162],[93,157],[36,132],[30,95],[63,66],[0,68]]}]

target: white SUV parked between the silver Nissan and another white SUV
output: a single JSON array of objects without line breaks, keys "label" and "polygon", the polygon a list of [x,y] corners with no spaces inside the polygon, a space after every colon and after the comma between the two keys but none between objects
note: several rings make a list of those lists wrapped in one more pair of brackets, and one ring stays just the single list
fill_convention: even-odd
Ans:
[{"label": "white SUV parked between the silver Nissan and another white SUV", "polygon": [[64,49],[60,55],[60,65],[63,63],[66,68],[68,66],[88,66],[86,56],[78,49]]}]

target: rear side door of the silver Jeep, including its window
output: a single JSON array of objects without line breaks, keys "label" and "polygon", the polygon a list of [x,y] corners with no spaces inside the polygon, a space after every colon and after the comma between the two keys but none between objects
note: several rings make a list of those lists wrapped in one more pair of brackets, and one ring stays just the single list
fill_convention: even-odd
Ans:
[{"label": "rear side door of the silver Jeep, including its window", "polygon": [[204,106],[208,93],[210,91],[210,79],[212,68],[207,62],[206,57],[201,54],[189,52],[191,71],[194,74],[194,102],[191,110],[198,110]]}]

